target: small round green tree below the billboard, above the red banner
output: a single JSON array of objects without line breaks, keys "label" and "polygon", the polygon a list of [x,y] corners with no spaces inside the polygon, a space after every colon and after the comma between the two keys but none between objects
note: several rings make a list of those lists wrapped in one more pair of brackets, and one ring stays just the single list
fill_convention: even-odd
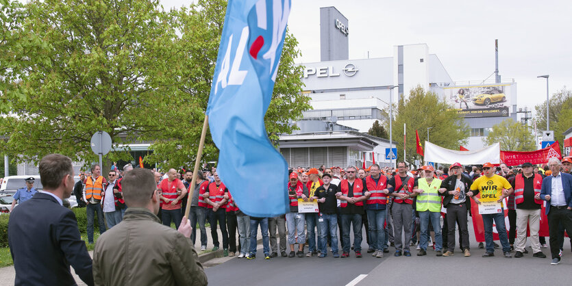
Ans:
[{"label": "small round green tree below the billboard, above the red banner", "polygon": [[528,125],[523,125],[508,118],[493,125],[493,131],[483,138],[484,144],[490,145],[499,142],[503,151],[534,151],[536,144],[532,130]]}]

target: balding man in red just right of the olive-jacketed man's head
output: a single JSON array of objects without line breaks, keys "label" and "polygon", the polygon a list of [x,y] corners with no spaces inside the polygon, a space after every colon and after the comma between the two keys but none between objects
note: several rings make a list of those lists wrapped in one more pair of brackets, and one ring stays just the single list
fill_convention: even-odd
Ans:
[{"label": "balding man in red just right of the olive-jacketed man's head", "polygon": [[181,199],[187,194],[185,185],[177,179],[177,170],[169,169],[169,177],[161,181],[159,187],[161,194],[159,198],[163,200],[162,221],[165,226],[171,226],[171,222],[175,223],[175,228],[179,228],[182,220]]}]

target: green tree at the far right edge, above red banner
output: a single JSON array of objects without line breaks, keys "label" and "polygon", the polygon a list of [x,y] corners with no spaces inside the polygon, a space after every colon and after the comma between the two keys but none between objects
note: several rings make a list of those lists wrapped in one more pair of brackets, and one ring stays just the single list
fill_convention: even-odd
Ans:
[{"label": "green tree at the far right edge, above red banner", "polygon": [[[542,131],[546,129],[546,102],[540,103],[534,108],[536,109],[536,128]],[[564,148],[564,135],[562,133],[572,127],[572,90],[568,90],[564,86],[552,94],[548,112],[550,129],[554,130],[554,140],[558,140],[560,148]]]}]

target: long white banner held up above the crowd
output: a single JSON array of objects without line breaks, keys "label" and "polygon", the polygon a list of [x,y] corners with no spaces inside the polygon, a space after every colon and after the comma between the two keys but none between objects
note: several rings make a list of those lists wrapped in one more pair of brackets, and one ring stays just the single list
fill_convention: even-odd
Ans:
[{"label": "long white banner held up above the crowd", "polygon": [[499,143],[486,146],[475,151],[456,151],[437,146],[425,141],[425,161],[453,164],[459,162],[462,165],[480,165],[486,162],[499,164],[501,161],[501,149]]}]

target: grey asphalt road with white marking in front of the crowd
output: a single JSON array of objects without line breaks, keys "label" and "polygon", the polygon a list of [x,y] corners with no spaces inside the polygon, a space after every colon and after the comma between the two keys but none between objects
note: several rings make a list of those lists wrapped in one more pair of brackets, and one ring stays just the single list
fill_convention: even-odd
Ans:
[{"label": "grey asphalt road with white marking in front of the crowd", "polygon": [[393,257],[395,249],[390,247],[390,253],[379,259],[366,253],[364,239],[362,258],[354,257],[351,252],[345,259],[334,259],[329,253],[323,259],[264,260],[259,248],[256,259],[225,257],[211,261],[205,271],[210,285],[569,285],[572,281],[568,238],[564,242],[562,263],[550,265],[549,248],[543,249],[545,259],[532,257],[528,246],[529,254],[519,259],[504,258],[500,249],[495,250],[495,257],[481,257],[484,249],[477,248],[470,219],[469,236],[471,257],[463,257],[458,248],[453,257],[436,257],[432,249],[427,256],[416,257],[414,248],[412,257]]}]

